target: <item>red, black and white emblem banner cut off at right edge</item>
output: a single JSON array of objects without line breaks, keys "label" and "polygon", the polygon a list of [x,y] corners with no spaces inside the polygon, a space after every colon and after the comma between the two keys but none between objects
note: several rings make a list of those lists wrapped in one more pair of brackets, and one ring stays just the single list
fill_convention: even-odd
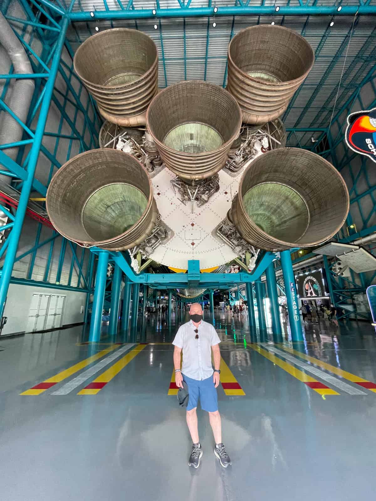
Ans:
[{"label": "red, black and white emblem banner cut off at right edge", "polygon": [[376,162],[376,108],[356,111],[347,117],[347,146]]}]

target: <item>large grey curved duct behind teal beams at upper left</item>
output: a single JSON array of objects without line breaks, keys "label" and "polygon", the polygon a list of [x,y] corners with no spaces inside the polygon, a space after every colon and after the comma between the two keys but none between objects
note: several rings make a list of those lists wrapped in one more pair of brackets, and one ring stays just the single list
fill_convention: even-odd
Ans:
[{"label": "large grey curved duct behind teal beams at upper left", "polygon": [[[33,73],[29,58],[23,48],[23,45],[16,37],[12,27],[0,12],[0,44],[7,51],[9,58],[12,61],[15,74],[31,74]],[[32,79],[17,79],[12,81],[13,90],[11,99],[7,102],[9,108],[14,112],[19,119],[25,123],[30,103],[34,94],[35,85]],[[12,84],[11,88],[12,89]],[[10,92],[10,90],[8,92]],[[2,122],[0,124],[0,144],[9,144],[21,141],[24,129],[21,125],[11,117],[9,113],[3,111]],[[19,148],[8,148],[4,152],[16,160]],[[0,175],[0,182],[9,184],[10,177]]]}]

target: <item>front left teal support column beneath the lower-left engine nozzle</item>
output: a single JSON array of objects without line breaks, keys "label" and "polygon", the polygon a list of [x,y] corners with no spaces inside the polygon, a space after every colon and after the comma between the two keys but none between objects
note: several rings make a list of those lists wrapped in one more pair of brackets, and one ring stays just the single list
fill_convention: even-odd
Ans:
[{"label": "front left teal support column beneath the lower-left engine nozzle", "polygon": [[98,266],[95,280],[93,311],[91,313],[89,342],[96,343],[100,339],[102,326],[102,311],[104,294],[106,291],[108,265],[108,250],[101,250],[98,254]]}]

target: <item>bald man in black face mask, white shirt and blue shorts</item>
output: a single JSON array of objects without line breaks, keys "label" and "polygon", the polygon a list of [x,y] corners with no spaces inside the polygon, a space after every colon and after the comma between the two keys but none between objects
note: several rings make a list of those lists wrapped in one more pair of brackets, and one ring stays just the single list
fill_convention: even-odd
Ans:
[{"label": "bald man in black face mask, white shirt and blue shorts", "polygon": [[[212,324],[203,321],[203,310],[199,303],[190,308],[191,320],[179,327],[172,344],[173,364],[175,367],[176,386],[188,386],[189,401],[186,408],[186,424],[191,433],[193,445],[188,464],[194,468],[200,466],[203,455],[197,426],[197,404],[200,399],[201,408],[209,412],[215,447],[214,454],[221,465],[227,468],[231,464],[225,445],[222,443],[221,416],[218,411],[217,386],[220,383],[221,342]],[[183,350],[183,364],[180,370],[180,353]],[[214,371],[212,366],[212,353]]]}]

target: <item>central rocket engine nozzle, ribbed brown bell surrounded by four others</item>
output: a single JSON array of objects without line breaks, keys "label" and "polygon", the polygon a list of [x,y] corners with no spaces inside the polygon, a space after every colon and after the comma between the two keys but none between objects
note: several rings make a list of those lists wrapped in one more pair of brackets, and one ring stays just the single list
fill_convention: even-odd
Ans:
[{"label": "central rocket engine nozzle, ribbed brown bell surrounded by four others", "polygon": [[172,172],[186,180],[206,179],[225,165],[242,125],[242,113],[222,87],[190,80],[154,97],[146,125]]}]

